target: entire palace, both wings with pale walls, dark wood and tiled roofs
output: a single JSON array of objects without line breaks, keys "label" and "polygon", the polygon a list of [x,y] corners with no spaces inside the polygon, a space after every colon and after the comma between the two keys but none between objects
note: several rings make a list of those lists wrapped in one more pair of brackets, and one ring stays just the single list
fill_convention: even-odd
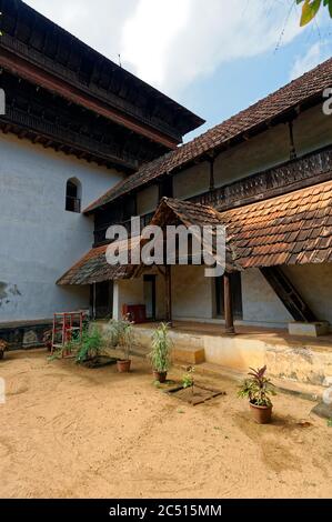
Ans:
[{"label": "entire palace, both wings with pale walls, dark wood and tiled roofs", "polygon": [[[167,320],[184,362],[268,363],[274,377],[322,385],[332,374],[332,59],[181,144],[203,120],[23,2],[0,9],[3,328],[137,308],[142,345]],[[107,230],[133,215],[142,227],[224,225],[225,274],[111,267]]]}]

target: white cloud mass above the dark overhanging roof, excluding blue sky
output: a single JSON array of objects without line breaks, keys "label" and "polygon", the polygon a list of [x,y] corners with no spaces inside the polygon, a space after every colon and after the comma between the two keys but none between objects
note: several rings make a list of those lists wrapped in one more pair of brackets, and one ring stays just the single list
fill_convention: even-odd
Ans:
[{"label": "white cloud mass above the dark overhanging roof, excluding blue sky", "polygon": [[121,53],[123,67],[173,97],[301,30],[290,0],[26,1],[114,61]]}]

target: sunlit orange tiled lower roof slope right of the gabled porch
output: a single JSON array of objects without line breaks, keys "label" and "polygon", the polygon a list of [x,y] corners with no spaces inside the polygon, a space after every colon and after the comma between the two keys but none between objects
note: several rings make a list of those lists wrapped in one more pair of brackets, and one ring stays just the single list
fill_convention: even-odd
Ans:
[{"label": "sunlit orange tiled lower roof slope right of the gabled porch", "polygon": [[332,262],[332,181],[220,213],[243,268]]}]

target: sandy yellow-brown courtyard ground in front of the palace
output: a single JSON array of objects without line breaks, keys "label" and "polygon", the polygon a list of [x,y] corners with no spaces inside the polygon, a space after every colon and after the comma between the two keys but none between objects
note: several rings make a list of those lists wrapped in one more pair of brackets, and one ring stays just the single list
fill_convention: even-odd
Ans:
[{"label": "sandy yellow-brown courtyard ground in front of the palace", "polygon": [[332,429],[311,402],[279,394],[256,425],[233,382],[198,377],[227,395],[187,405],[142,359],[118,374],[7,353],[0,377],[1,498],[332,498]]}]

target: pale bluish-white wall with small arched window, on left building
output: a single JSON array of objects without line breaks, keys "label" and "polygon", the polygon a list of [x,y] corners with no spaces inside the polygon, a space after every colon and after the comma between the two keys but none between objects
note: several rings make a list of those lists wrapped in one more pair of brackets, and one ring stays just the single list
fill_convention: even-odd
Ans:
[{"label": "pale bluish-white wall with small arched window, on left building", "polygon": [[73,177],[84,209],[122,174],[0,134],[0,322],[89,305],[88,288],[56,285],[93,241],[92,218],[64,210]]}]

